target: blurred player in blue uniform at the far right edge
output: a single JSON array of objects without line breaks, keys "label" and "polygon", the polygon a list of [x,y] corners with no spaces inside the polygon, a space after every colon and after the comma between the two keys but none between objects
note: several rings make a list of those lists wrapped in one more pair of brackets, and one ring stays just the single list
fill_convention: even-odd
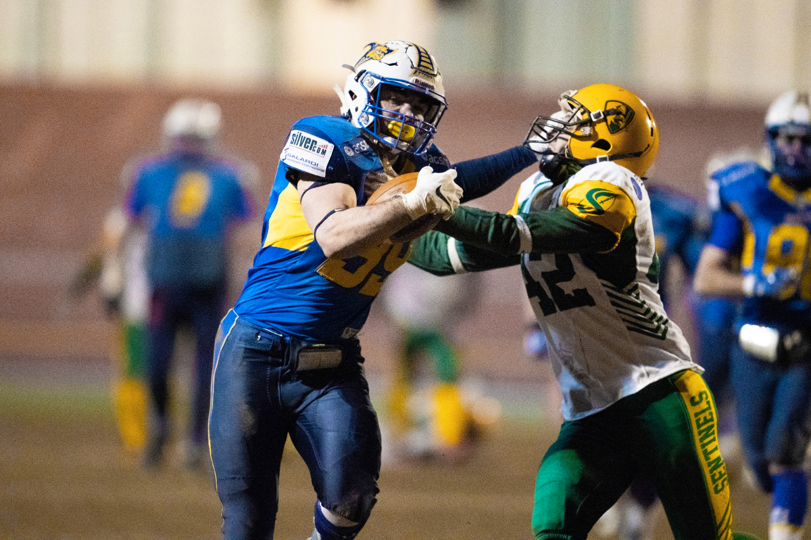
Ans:
[{"label": "blurred player in blue uniform at the far right edge", "polygon": [[808,93],[787,92],[770,106],[766,142],[771,170],[749,161],[712,177],[718,208],[695,287],[744,297],[732,351],[740,439],[757,482],[772,494],[770,540],[799,540],[811,409]]}]

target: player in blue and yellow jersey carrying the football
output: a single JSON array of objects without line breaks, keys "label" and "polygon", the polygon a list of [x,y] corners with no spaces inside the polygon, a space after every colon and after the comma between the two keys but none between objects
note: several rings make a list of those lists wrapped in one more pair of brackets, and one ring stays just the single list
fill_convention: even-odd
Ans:
[{"label": "player in blue and yellow jersey carrying the football", "polygon": [[[516,147],[451,169],[432,144],[447,107],[442,76],[419,45],[371,43],[347,67],[341,116],[290,130],[260,250],[221,323],[208,430],[225,538],[272,538],[288,435],[317,495],[313,538],[358,534],[378,493],[380,429],[355,336],[408,258],[397,233],[448,218],[460,196],[484,195],[537,162]],[[413,191],[366,205],[413,171]]]}]

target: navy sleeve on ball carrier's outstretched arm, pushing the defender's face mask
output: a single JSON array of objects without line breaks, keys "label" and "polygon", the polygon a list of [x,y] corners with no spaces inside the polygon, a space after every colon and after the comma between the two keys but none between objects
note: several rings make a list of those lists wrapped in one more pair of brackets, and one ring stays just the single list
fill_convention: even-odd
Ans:
[{"label": "navy sleeve on ball carrier's outstretched arm, pushing the defender's face mask", "polygon": [[456,182],[464,193],[461,202],[478,199],[504,185],[514,175],[538,163],[529,148],[517,146],[492,156],[479,157],[453,165],[457,169]]}]

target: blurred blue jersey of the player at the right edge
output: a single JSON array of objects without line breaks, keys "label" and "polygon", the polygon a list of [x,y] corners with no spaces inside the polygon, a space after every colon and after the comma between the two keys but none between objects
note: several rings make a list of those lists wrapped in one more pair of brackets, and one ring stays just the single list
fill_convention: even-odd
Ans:
[{"label": "blurred blue jersey of the player at the right edge", "polygon": [[719,196],[709,243],[740,255],[744,276],[757,280],[775,272],[798,276],[782,298],[746,298],[740,322],[777,328],[811,324],[811,194],[793,190],[754,162],[720,169],[712,181]]}]

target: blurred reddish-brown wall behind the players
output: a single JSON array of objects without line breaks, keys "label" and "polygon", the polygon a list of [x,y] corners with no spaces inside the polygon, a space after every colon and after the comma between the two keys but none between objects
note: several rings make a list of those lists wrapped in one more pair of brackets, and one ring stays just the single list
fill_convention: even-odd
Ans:
[{"label": "blurred reddish-brown wall behind the players", "polygon": [[[534,116],[556,109],[557,93],[521,94],[507,88],[451,93],[437,144],[452,161],[521,144]],[[122,168],[159,149],[166,109],[190,94],[221,104],[223,152],[257,166],[260,216],[290,125],[304,116],[335,114],[338,106],[332,95],[272,88],[187,93],[182,88],[0,85],[0,358],[103,361],[107,345],[101,304],[88,298],[71,305],[67,286],[97,242],[105,214],[122,200]],[[650,182],[703,197],[703,171],[711,153],[761,144],[762,106],[655,99],[649,105],[662,134]],[[505,211],[531,172],[527,169],[477,204]],[[258,245],[260,227],[258,217],[236,234],[234,294]],[[522,376],[520,273],[514,268],[490,272],[484,284],[483,302],[458,329],[470,369],[494,377]],[[394,339],[375,309],[363,332],[367,356],[385,356]],[[500,361],[494,363],[494,357]]]}]

